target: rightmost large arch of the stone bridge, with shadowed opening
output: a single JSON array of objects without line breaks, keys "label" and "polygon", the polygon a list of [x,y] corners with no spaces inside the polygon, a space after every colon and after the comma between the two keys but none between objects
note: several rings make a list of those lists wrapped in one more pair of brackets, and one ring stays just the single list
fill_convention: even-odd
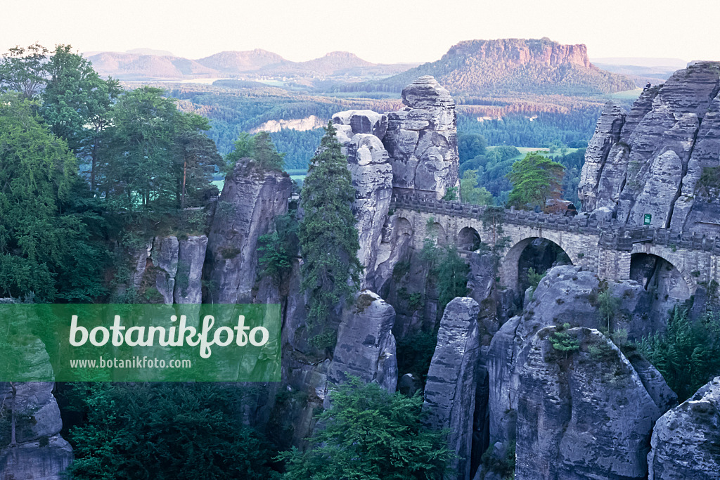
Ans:
[{"label": "rightmost large arch of the stone bridge, with shadowed opening", "polygon": [[630,255],[630,279],[646,289],[654,286],[658,294],[678,300],[689,299],[698,286],[685,268],[682,256],[660,245],[634,245]]}]

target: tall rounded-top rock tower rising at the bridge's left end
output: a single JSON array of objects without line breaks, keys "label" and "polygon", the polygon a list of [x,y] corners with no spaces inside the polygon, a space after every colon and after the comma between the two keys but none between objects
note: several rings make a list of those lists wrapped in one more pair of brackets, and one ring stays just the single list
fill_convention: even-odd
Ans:
[{"label": "tall rounded-top rock tower rising at the bridge's left end", "polygon": [[383,143],[392,162],[392,186],[400,194],[441,199],[459,186],[455,101],[431,76],[402,90],[407,107],[387,114]]}]

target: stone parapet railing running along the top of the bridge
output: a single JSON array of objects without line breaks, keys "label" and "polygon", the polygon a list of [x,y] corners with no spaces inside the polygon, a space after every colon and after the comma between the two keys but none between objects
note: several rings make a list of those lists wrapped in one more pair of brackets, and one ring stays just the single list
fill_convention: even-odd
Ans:
[{"label": "stone parapet railing running along the top of the bridge", "polygon": [[[460,201],[421,199],[409,195],[394,195],[391,208],[467,217],[480,221],[482,221],[486,209],[486,207],[480,205]],[[708,237],[698,232],[677,232],[662,228],[636,227],[618,222],[617,219],[606,222],[591,219],[586,215],[564,217],[559,214],[529,212],[510,208],[505,209],[501,221],[526,227],[598,235],[600,245],[605,248],[630,251],[635,243],[652,242],[656,245],[667,245],[671,248],[703,250],[720,255],[719,237]]]}]

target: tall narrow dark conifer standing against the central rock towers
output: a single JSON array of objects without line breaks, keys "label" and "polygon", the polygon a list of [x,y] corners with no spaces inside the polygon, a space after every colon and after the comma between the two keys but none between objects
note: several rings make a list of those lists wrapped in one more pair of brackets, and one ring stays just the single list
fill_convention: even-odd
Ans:
[{"label": "tall narrow dark conifer standing against the central rock towers", "polygon": [[360,282],[360,248],[351,204],[355,199],[347,158],[328,123],[302,186],[300,222],[302,288],[310,294],[308,327],[318,347],[334,343],[329,326],[333,308]]}]

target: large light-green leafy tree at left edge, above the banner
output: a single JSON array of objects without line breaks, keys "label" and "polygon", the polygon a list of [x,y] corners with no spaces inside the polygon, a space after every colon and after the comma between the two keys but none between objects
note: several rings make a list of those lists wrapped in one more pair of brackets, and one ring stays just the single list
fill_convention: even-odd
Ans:
[{"label": "large light-green leafy tree at left edge, above the banner", "polygon": [[76,160],[36,106],[0,96],[0,296],[87,301],[102,292],[102,255],[72,209]]}]

